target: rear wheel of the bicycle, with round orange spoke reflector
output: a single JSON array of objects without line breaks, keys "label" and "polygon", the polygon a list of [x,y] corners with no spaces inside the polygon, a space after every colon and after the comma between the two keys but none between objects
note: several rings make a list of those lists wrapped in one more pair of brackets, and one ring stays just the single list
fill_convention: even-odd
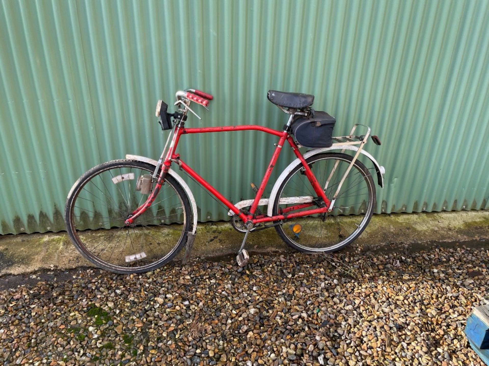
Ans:
[{"label": "rear wheel of the bicycle, with round orange spoke reflector", "polygon": [[[324,153],[306,160],[329,200],[333,198],[352,159],[347,154]],[[310,206],[288,212],[318,208],[321,200],[316,196],[302,164],[299,164],[279,187],[273,203],[273,215],[282,214],[285,208],[297,205],[298,200],[304,203],[306,197],[311,198]],[[375,203],[372,175],[357,160],[342,184],[331,212],[286,219],[275,229],[287,244],[299,251],[333,252],[352,243],[362,233],[372,217]]]}]

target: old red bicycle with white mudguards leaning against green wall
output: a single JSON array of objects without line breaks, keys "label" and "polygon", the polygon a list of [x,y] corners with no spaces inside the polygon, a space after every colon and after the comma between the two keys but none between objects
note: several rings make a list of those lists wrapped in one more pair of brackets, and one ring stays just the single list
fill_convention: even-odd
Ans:
[{"label": "old red bicycle with white mudguards leaning against green wall", "polygon": [[[369,137],[380,145],[378,137],[358,123],[350,135],[333,137],[335,120],[312,109],[312,95],[270,90],[267,97],[289,115],[281,131],[260,125],[185,127],[188,112],[200,119],[190,108],[192,102],[207,109],[213,100],[212,95],[195,89],[176,93],[174,113],[158,101],[158,122],[163,131],[170,130],[159,160],[128,154],[124,160],[91,168],[71,188],[65,222],[80,253],[116,273],[153,270],[170,262],[183,246],[184,260],[188,259],[197,230],[197,205],[172,164],[229,209],[232,226],[244,233],[236,257],[240,266],[249,260],[244,248],[248,234],[268,227],[302,252],[331,252],[352,243],[369,223],[376,204],[375,183],[370,170],[357,160],[360,154],[373,163],[383,187],[384,168],[363,148]],[[358,126],[366,128],[364,135],[355,135]],[[279,138],[262,183],[258,187],[251,183],[254,199],[231,203],[176,153],[183,135],[248,130]],[[262,198],[286,142],[296,159],[274,183],[269,198]],[[302,154],[302,146],[312,149]],[[259,209],[262,206],[267,206],[266,213]]]}]

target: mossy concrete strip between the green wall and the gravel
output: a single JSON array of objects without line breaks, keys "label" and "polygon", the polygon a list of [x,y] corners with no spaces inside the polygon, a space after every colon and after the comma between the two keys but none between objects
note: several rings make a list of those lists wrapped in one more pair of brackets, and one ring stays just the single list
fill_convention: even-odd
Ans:
[{"label": "mossy concrete strip between the green wall and the gravel", "polygon": [[[243,235],[229,223],[199,224],[191,258],[231,259]],[[374,215],[364,233],[346,250],[422,250],[433,244],[485,245],[488,240],[489,211],[380,214]],[[291,250],[273,228],[250,234],[246,247],[250,253]],[[0,275],[79,266],[92,265],[65,232],[0,236]]]}]

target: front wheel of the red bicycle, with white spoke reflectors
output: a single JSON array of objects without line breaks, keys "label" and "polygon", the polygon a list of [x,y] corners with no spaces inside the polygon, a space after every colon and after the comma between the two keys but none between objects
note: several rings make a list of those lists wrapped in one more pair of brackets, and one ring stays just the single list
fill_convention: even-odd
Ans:
[{"label": "front wheel of the red bicycle, with white spoke reflectors", "polygon": [[191,209],[185,191],[167,175],[155,202],[133,224],[128,215],[146,201],[139,177],[155,167],[131,160],[95,166],[71,188],[65,221],[85,258],[115,273],[141,273],[170,262],[187,242]]}]

